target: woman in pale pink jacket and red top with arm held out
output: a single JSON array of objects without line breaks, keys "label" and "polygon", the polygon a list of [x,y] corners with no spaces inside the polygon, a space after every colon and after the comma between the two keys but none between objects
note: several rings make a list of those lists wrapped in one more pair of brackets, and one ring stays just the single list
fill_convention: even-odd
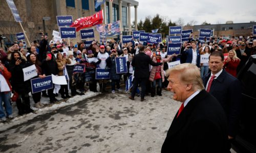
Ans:
[{"label": "woman in pale pink jacket and red top with arm held out", "polygon": [[[155,63],[169,62],[172,60],[172,57],[175,55],[168,56],[168,58],[162,59],[160,52],[156,52],[156,57],[153,58]],[[157,94],[162,95],[162,82],[164,82],[164,70],[162,66],[153,66],[150,73],[150,79],[152,82],[151,96],[156,95],[156,83],[158,83]]]}]

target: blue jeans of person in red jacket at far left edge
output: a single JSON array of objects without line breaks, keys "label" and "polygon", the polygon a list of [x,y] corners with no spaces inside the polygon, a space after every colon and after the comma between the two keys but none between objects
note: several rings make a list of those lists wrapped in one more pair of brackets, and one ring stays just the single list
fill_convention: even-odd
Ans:
[{"label": "blue jeans of person in red jacket at far left edge", "polygon": [[5,104],[5,111],[7,116],[12,114],[12,106],[11,106],[11,91],[6,93],[5,92],[1,92],[0,93],[0,118],[5,117],[5,112],[4,112],[4,108],[3,108],[3,101]]}]

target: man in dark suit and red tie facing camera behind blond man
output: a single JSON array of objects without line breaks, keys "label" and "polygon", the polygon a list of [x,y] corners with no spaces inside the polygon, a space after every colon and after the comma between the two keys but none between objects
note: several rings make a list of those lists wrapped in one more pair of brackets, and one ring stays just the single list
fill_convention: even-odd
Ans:
[{"label": "man in dark suit and red tie facing camera behind blond man", "polygon": [[202,80],[207,92],[213,95],[223,107],[228,119],[228,138],[233,139],[238,131],[241,112],[242,85],[237,78],[223,69],[224,56],[212,52],[209,56],[211,72]]}]

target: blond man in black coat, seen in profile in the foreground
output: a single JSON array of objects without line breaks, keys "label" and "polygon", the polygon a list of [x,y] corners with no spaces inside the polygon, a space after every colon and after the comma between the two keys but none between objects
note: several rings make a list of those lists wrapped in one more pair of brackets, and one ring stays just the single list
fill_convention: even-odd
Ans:
[{"label": "blond man in black coat, seen in profile in the foreground", "polygon": [[217,99],[204,90],[198,67],[184,63],[166,73],[167,88],[182,105],[161,152],[229,152],[225,112]]}]

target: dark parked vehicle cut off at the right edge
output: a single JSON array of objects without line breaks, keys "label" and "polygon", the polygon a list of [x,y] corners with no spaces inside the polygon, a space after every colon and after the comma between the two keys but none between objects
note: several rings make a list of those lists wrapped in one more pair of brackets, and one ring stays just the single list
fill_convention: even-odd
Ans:
[{"label": "dark parked vehicle cut off at the right edge", "polygon": [[239,133],[232,143],[238,153],[256,152],[256,55],[252,55],[239,71],[243,84],[243,107]]}]

